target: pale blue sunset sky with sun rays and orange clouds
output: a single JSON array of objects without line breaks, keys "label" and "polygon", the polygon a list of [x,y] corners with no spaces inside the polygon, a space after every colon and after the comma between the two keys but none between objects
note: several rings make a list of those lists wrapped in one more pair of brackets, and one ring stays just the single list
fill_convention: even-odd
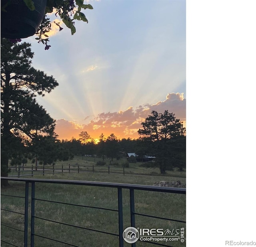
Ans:
[{"label": "pale blue sunset sky with sun rays and orange clouds", "polygon": [[[186,2],[184,0],[90,0],[88,24],[76,33],[57,29],[49,50],[35,37],[32,65],[59,86],[38,97],[60,139],[114,133],[138,138],[152,110],[168,110],[186,125]],[[52,15],[52,20],[56,17]]]}]

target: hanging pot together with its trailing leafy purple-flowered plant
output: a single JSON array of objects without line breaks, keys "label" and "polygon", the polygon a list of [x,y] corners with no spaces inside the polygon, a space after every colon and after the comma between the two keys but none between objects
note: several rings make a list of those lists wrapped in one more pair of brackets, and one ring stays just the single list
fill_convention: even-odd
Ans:
[{"label": "hanging pot together with its trailing leafy purple-flowered plant", "polygon": [[75,21],[87,22],[82,10],[93,7],[84,4],[87,0],[1,0],[1,38],[20,40],[35,34],[38,43],[49,49],[48,32],[52,24],[56,24],[60,31],[63,29],[58,21],[50,21],[48,14],[53,13],[60,21],[76,32]]}]

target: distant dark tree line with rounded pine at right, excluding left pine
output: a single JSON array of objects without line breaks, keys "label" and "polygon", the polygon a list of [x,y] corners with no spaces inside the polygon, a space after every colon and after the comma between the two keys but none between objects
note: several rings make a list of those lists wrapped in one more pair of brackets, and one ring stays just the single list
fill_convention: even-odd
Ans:
[{"label": "distant dark tree line with rounded pine at right, excluding left pine", "polygon": [[146,167],[158,167],[161,174],[166,170],[186,167],[186,129],[173,113],[167,110],[164,113],[152,113],[141,123],[138,130],[140,138],[118,139],[114,134],[104,138],[102,133],[98,144],[86,131],[82,131],[76,140],[62,140],[62,144],[75,155],[97,155],[102,157],[121,158],[127,153],[135,153],[137,160],[151,156],[153,162],[144,164]]}]

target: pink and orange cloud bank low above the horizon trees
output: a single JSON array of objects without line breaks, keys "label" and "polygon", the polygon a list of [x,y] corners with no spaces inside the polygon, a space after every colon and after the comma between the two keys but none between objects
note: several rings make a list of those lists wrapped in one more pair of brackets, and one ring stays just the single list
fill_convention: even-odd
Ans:
[{"label": "pink and orange cloud bank low above the horizon trees", "polygon": [[[114,113],[99,113],[88,124],[80,125],[76,122],[60,119],[56,121],[56,133],[60,139],[70,140],[72,136],[78,138],[81,131],[87,131],[92,138],[98,138],[101,133],[105,137],[114,133],[118,138],[138,138],[138,129],[151,111],[163,113],[168,110],[175,114],[186,126],[186,99],[183,93],[168,93],[166,100],[155,104],[140,105],[134,109],[129,107]],[[87,119],[88,117],[86,117]]]}]

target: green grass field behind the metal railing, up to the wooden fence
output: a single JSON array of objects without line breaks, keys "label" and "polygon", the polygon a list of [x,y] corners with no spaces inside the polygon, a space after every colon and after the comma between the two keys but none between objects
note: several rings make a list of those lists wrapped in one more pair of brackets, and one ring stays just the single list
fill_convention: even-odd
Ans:
[{"label": "green grass field behind the metal railing, up to the wooden fence", "polygon": [[[85,158],[85,157],[84,157]],[[72,162],[94,162],[89,160],[92,157],[86,157],[88,160],[72,160]],[[72,163],[75,164],[75,163]],[[71,165],[71,164],[70,164]],[[144,168],[136,168],[142,170]],[[185,172],[184,172],[185,174]],[[184,176],[183,174],[183,176]],[[85,180],[100,182],[116,182],[127,184],[144,184],[153,185],[159,181],[177,181],[186,184],[186,178],[177,176],[142,176],[134,174],[104,174],[104,173],[64,173],[64,174],[46,174],[45,176],[37,175],[35,178],[45,179],[68,179],[68,180]],[[177,174],[174,174],[177,175]],[[10,187],[3,188],[1,194],[9,194],[16,196],[24,196],[24,182],[9,182]],[[117,189],[102,188],[92,186],[75,186],[62,184],[36,184],[36,198],[44,200],[54,200],[79,205],[104,207],[117,209]],[[1,196],[1,208],[23,213],[24,199]],[[85,208],[78,206],[69,206],[50,202],[36,201],[35,215],[46,219],[69,223],[91,229],[97,229],[110,233],[118,234],[118,213],[116,211],[106,211],[102,209]],[[135,191],[135,211],[154,215],[158,217],[166,217],[171,219],[186,220],[186,196],[181,194]],[[124,213],[124,229],[130,226],[130,199],[129,190],[123,189],[123,213]],[[22,229],[24,216],[8,211],[1,211],[1,223],[12,227]],[[163,219],[150,218],[136,215],[136,227],[140,228],[163,228],[163,229],[180,229],[185,227],[184,223],[174,221],[166,221]],[[29,221],[30,222],[30,221]],[[186,227],[185,227],[186,228]],[[60,225],[51,221],[35,219],[35,233],[46,237],[52,237],[64,242],[72,243],[81,247],[115,247],[118,246],[118,237],[97,233],[89,230],[78,229],[66,225]],[[186,233],[186,232],[185,232]],[[23,246],[23,233],[14,229],[1,226],[1,239],[13,243],[17,246]],[[14,237],[15,236],[15,237]],[[185,235],[186,237],[186,235]],[[166,245],[182,247],[185,243],[162,242]],[[10,246],[2,243],[1,246]],[[66,247],[63,243],[50,241],[41,237],[35,237],[36,247]],[[124,243],[124,246],[130,246]],[[136,242],[136,246],[157,246],[141,241]]]}]

